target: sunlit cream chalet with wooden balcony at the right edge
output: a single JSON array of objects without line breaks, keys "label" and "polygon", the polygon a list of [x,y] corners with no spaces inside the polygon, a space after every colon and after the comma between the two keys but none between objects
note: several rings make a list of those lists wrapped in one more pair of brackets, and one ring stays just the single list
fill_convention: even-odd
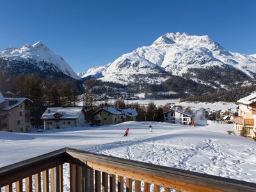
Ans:
[{"label": "sunlit cream chalet with wooden balcony at the right edge", "polygon": [[234,116],[234,130],[239,134],[246,130],[248,137],[255,136],[256,127],[256,92],[237,100],[239,103],[238,114]]}]

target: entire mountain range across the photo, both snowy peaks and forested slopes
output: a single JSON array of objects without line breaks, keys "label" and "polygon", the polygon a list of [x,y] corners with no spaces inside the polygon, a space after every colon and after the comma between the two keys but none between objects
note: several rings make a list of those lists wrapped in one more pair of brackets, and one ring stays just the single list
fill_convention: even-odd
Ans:
[{"label": "entire mountain range across the photo, both snowy peaks and forested slopes", "polygon": [[0,70],[10,76],[35,74],[86,81],[84,86],[100,95],[122,92],[131,98],[147,92],[151,97],[193,97],[255,85],[256,54],[227,51],[209,36],[166,33],[150,46],[79,74],[42,42],[4,49]]}]

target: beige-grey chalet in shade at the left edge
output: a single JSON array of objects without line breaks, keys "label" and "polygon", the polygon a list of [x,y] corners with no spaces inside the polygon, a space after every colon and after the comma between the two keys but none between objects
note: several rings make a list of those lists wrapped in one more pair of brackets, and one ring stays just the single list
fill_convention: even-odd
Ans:
[{"label": "beige-grey chalet in shade at the left edge", "polygon": [[3,98],[0,95],[0,131],[26,132],[31,129],[28,98]]}]

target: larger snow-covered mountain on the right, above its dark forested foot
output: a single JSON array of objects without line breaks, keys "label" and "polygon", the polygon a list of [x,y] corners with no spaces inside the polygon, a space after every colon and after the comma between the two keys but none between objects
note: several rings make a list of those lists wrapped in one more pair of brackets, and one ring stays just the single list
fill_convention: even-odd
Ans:
[{"label": "larger snow-covered mountain on the right, above its dark forested foot", "polygon": [[[82,77],[90,76],[122,84],[160,84],[174,75],[209,84],[207,78],[205,81],[205,78],[202,79],[200,76],[204,75],[206,70],[214,68],[227,74],[230,70],[235,74],[241,74],[244,76],[243,81],[254,79],[256,58],[227,51],[206,35],[166,33],[150,46],[139,47],[108,65],[90,68]],[[211,74],[208,77],[211,79]],[[217,77],[216,79],[218,80]]]}]

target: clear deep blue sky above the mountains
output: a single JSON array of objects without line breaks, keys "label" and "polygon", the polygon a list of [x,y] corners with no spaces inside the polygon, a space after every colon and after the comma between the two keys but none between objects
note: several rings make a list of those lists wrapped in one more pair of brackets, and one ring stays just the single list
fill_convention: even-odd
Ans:
[{"label": "clear deep blue sky above the mountains", "polygon": [[84,72],[179,31],[256,54],[255,8],[253,0],[2,1],[0,50],[41,40]]}]

